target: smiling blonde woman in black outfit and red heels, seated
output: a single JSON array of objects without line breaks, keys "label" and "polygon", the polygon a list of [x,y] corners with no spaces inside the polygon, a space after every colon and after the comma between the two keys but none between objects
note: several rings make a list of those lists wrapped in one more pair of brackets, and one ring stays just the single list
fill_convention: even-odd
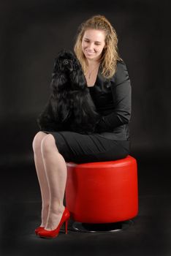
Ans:
[{"label": "smiling blonde woman in black outfit and red heels, seated", "polygon": [[34,161],[42,195],[40,237],[58,236],[69,211],[64,207],[66,162],[100,162],[129,154],[131,85],[126,65],[117,52],[115,29],[102,15],[81,24],[75,54],[83,68],[96,110],[101,116],[92,134],[69,130],[38,132]]}]

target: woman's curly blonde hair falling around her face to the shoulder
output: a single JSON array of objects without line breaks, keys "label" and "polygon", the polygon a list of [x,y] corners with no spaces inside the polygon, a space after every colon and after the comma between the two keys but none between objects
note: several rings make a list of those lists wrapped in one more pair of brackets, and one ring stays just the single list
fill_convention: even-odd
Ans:
[{"label": "woman's curly blonde hair falling around her face to the shoulder", "polygon": [[102,64],[102,75],[104,78],[112,78],[115,74],[117,61],[121,60],[121,58],[118,56],[118,37],[115,29],[110,24],[109,20],[107,20],[107,18],[105,18],[103,15],[95,15],[86,20],[86,22],[80,24],[74,50],[85,74],[87,62],[81,45],[83,36],[87,29],[99,29],[105,32],[106,47],[102,50],[102,56],[100,59]]}]

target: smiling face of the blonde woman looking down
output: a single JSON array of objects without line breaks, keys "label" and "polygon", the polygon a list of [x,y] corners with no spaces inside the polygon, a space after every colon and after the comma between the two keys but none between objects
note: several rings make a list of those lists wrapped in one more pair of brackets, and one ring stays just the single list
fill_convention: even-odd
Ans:
[{"label": "smiling face of the blonde woman looking down", "polygon": [[99,60],[104,46],[104,31],[98,29],[87,29],[85,31],[82,39],[82,50],[87,60]]}]

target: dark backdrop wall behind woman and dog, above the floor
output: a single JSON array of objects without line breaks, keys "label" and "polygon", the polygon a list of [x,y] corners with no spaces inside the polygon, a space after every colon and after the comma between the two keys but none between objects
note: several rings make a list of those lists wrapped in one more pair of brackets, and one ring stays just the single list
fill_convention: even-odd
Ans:
[{"label": "dark backdrop wall behind woman and dog, above the floor", "polygon": [[1,163],[31,160],[54,58],[61,48],[73,48],[77,27],[96,14],[117,31],[132,81],[133,154],[168,154],[169,1],[1,1],[0,14]]}]

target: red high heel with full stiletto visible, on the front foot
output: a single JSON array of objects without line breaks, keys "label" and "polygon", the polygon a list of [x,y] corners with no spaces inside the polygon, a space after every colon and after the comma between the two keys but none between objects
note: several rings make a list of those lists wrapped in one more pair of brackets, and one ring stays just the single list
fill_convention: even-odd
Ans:
[{"label": "red high heel with full stiletto visible, on the front foot", "polygon": [[65,222],[65,233],[67,234],[69,217],[70,217],[69,211],[65,207],[64,213],[62,214],[61,221],[59,222],[58,227],[56,227],[55,230],[45,230],[44,228],[43,230],[39,231],[38,236],[43,238],[55,238],[56,236],[58,236],[59,230],[61,226],[64,224],[64,222]]}]

